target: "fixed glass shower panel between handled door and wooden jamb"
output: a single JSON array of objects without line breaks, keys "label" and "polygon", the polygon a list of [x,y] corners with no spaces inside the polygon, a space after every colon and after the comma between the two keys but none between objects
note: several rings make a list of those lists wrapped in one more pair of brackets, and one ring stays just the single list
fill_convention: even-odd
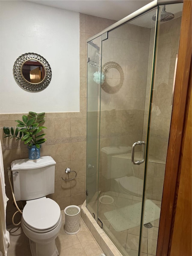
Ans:
[{"label": "fixed glass shower panel between handled door and wooden jamb", "polygon": [[[172,89],[174,87],[174,71],[176,55],[179,48],[180,23],[183,4],[165,5],[167,13],[161,13],[159,17],[157,57],[155,80],[153,87],[151,122],[149,134],[149,150],[147,156],[146,170],[146,194],[145,206],[153,209],[152,212],[145,212],[142,231],[141,252],[156,255],[159,217],[161,199],[164,184],[164,172],[167,157],[167,146],[169,139],[171,112],[172,112]],[[159,6],[160,12],[163,6]],[[161,21],[163,16],[170,19]],[[155,22],[154,22],[155,23]],[[155,26],[155,24],[154,24]],[[155,29],[151,28],[150,41],[153,41]],[[149,97],[149,93],[148,96]],[[145,108],[144,119],[148,119],[149,108]],[[146,127],[146,126],[145,126]],[[144,131],[145,133],[147,130]],[[151,219],[151,221],[148,221]],[[147,228],[148,227],[148,228]]]}]

